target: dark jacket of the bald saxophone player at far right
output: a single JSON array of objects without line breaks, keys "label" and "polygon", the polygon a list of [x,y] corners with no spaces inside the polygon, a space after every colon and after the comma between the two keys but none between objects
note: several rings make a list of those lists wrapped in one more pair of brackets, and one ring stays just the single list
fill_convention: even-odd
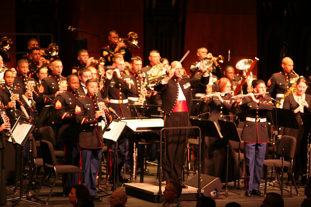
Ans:
[{"label": "dark jacket of the bald saxophone player at far right", "polygon": [[269,95],[271,97],[277,97],[280,99],[283,97],[282,94],[284,94],[287,89],[290,88],[291,84],[293,84],[296,79],[297,75],[295,75],[294,73],[274,73],[268,80],[267,92],[269,92]]}]

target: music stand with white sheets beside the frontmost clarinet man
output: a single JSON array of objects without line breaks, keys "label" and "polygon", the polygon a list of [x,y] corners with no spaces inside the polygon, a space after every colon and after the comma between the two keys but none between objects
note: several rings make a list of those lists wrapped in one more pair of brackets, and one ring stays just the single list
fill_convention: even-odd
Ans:
[{"label": "music stand with white sheets beside the frontmost clarinet man", "polygon": [[[108,139],[108,146],[110,146],[110,140],[112,140],[113,142],[115,142],[114,144],[114,182],[113,182],[113,190],[116,190],[116,176],[118,176],[118,173],[116,173],[116,166],[117,166],[117,141],[118,138],[120,137],[123,129],[126,126],[126,122],[114,119],[112,120],[111,124],[109,125],[109,128],[111,129],[108,132],[104,132],[103,138],[104,139]],[[109,153],[108,153],[108,159],[109,160]],[[108,164],[107,164],[108,166]],[[109,173],[108,173],[108,167],[107,167],[107,172],[106,172],[106,186],[108,183],[108,179],[109,179]]]}]

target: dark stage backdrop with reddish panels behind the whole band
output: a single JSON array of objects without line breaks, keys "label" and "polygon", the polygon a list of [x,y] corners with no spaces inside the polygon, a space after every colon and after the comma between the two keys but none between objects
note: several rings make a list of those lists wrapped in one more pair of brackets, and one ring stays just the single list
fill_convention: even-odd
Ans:
[{"label": "dark stage backdrop with reddish panels behind the whole band", "polygon": [[[294,60],[298,74],[306,74],[311,62],[310,9],[310,1],[302,0],[3,0],[0,11],[5,21],[0,33],[5,34],[0,38],[12,38],[12,61],[7,65],[15,67],[21,56],[15,52],[27,52],[27,40],[37,36],[12,33],[52,34],[60,47],[64,75],[68,75],[77,65],[75,39],[86,39],[90,56],[96,59],[100,48],[108,44],[107,39],[69,31],[69,26],[102,36],[115,29],[122,38],[134,31],[140,49],[132,49],[132,53],[143,58],[143,65],[149,64],[151,49],[170,61],[180,60],[190,50],[183,62],[189,72],[189,64],[197,60],[197,47],[203,46],[214,56],[225,56],[220,64],[224,68],[229,65],[230,49],[234,66],[242,58],[258,57],[253,74],[267,82],[281,69],[282,55]],[[47,47],[51,38],[40,38],[40,46]]]}]

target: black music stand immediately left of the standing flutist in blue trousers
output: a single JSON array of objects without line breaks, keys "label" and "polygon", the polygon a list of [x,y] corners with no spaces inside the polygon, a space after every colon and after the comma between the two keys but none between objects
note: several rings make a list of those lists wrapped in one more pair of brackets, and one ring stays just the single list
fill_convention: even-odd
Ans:
[{"label": "black music stand immediately left of the standing flutist in blue trousers", "polygon": [[[226,186],[225,186],[225,193],[226,193],[226,197],[228,198],[228,168],[229,168],[229,140],[235,141],[235,142],[239,142],[241,143],[242,140],[240,138],[238,129],[236,128],[236,125],[234,124],[234,122],[232,121],[227,121],[227,120],[221,120],[218,119],[218,123],[221,129],[221,134],[228,139],[227,142],[227,167],[226,167]],[[239,169],[238,169],[239,171]],[[237,195],[241,195],[239,193],[236,192],[232,192],[235,193]]]}]

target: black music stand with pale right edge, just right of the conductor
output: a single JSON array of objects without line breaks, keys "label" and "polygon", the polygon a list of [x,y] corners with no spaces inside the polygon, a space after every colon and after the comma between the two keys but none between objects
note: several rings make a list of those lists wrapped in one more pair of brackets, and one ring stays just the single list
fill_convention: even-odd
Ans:
[{"label": "black music stand with pale right edge, just right of the conductor", "polygon": [[[204,154],[205,154],[205,137],[214,137],[214,138],[222,138],[222,135],[219,131],[217,124],[211,120],[207,119],[190,119],[192,126],[199,127],[201,129],[201,159],[202,163],[201,169],[205,169],[205,162],[204,162]],[[200,169],[198,169],[200,170]]]}]

